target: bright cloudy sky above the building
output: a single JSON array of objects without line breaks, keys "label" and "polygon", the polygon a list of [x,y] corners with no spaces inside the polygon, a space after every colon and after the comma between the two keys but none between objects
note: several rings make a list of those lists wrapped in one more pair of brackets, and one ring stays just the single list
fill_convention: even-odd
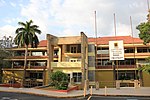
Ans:
[{"label": "bright cloudy sky above the building", "polygon": [[42,31],[40,40],[46,34],[58,37],[78,36],[84,32],[95,37],[95,11],[97,37],[114,36],[114,13],[116,35],[138,37],[136,29],[146,21],[147,0],[0,0],[0,39],[15,37],[18,22],[33,20]]}]

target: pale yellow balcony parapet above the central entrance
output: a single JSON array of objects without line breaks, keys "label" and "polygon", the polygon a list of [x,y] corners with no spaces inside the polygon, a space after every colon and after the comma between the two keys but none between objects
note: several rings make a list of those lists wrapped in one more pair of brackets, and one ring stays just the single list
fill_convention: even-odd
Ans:
[{"label": "pale yellow balcony parapet above the central entrance", "polygon": [[79,68],[81,67],[81,62],[51,62],[52,68]]}]

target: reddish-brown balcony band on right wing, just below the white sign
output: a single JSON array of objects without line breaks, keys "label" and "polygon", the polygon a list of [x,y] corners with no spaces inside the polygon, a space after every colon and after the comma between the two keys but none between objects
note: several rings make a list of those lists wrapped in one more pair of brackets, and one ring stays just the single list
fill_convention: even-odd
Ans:
[{"label": "reddish-brown balcony band on right wing, just below the white sign", "polygon": [[[122,69],[122,68],[137,68],[136,65],[115,65],[116,68]],[[96,66],[96,69],[112,69],[112,65],[100,65]]]}]

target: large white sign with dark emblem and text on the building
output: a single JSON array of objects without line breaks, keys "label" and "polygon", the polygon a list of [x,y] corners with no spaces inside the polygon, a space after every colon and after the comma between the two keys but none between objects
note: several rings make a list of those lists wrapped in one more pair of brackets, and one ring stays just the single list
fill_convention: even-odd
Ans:
[{"label": "large white sign with dark emblem and text on the building", "polygon": [[109,41],[109,59],[124,60],[123,40]]}]

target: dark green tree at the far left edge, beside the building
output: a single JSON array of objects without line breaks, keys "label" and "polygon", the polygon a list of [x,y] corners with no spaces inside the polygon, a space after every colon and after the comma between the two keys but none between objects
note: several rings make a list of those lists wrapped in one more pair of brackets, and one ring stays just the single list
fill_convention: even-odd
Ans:
[{"label": "dark green tree at the far left edge, beside the building", "polygon": [[0,83],[2,83],[2,68],[10,67],[10,62],[8,62],[8,57],[11,56],[10,51],[0,48]]}]

